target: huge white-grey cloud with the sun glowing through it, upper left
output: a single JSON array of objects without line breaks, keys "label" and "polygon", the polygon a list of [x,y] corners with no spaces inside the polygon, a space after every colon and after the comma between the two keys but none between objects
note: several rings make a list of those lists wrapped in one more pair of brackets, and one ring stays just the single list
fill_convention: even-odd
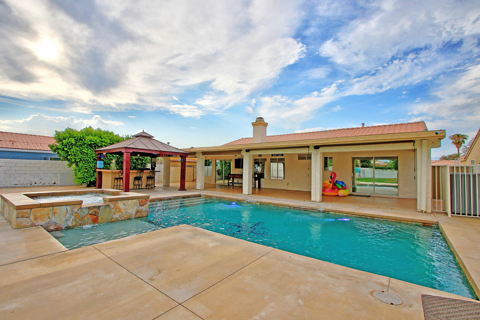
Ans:
[{"label": "huge white-grey cloud with the sun glowing through it, upper left", "polygon": [[[295,1],[7,5],[14,14],[4,13],[11,23],[0,28],[0,94],[77,103],[69,111],[134,105],[198,117],[268,85],[306,50],[293,38],[301,21]],[[192,86],[206,89],[185,105],[198,107],[172,103]]]}]

